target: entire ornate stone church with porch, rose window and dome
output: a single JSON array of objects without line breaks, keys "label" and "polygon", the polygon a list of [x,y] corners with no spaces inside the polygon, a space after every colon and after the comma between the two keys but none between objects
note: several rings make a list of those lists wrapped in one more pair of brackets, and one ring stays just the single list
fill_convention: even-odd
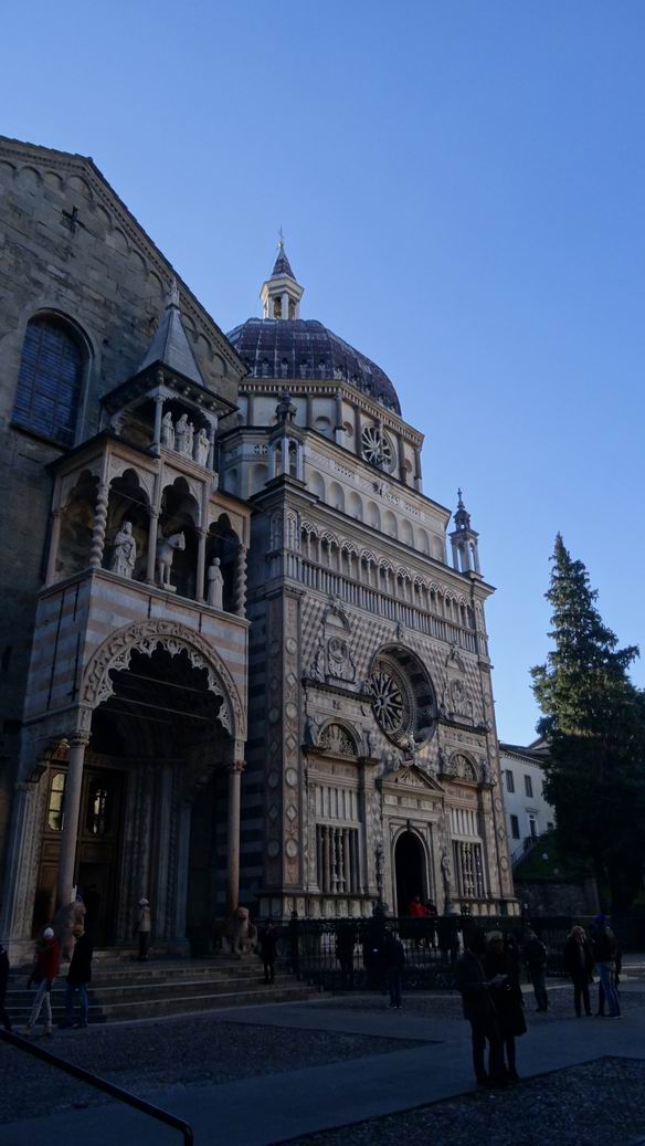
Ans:
[{"label": "entire ornate stone church with porch, rose window and dome", "polygon": [[[284,248],[228,337],[92,160],[0,141],[0,935],[513,911],[491,592]],[[448,548],[450,555],[448,556]]]}]

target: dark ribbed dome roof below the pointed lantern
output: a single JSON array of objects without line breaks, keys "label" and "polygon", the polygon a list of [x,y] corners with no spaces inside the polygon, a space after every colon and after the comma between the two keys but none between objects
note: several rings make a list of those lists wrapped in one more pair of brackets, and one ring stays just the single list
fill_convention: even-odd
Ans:
[{"label": "dark ribbed dome roof below the pointed lantern", "polygon": [[347,382],[388,410],[401,414],[390,378],[314,319],[247,319],[227,335],[252,378]]}]

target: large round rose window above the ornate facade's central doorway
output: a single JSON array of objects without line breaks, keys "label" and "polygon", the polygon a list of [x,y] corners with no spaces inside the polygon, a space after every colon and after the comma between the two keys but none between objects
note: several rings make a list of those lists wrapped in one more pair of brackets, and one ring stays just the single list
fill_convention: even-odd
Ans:
[{"label": "large round rose window above the ornate facade's central doorway", "polygon": [[379,652],[368,689],[373,714],[391,740],[401,747],[411,747],[427,739],[436,704],[430,678],[414,653],[399,647]]}]

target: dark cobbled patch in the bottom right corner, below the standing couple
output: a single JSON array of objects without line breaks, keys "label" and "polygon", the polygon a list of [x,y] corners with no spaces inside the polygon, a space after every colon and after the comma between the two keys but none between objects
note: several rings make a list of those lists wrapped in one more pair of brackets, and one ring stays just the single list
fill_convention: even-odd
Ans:
[{"label": "dark cobbled patch in the bottom right corner, below the standing couple", "polygon": [[636,1146],[643,1136],[645,1061],[606,1058],[509,1090],[305,1135],[290,1146]]}]

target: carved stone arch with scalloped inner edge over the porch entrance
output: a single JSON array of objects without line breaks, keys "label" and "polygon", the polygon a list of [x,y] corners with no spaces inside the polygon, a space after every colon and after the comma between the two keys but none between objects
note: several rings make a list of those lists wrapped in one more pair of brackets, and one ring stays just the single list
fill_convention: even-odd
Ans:
[{"label": "carved stone arch with scalloped inner edge over the porch entrance", "polygon": [[195,668],[206,669],[209,690],[222,697],[218,713],[221,724],[236,740],[245,740],[246,719],[233,676],[212,645],[179,621],[137,621],[110,634],[85,668],[81,702],[91,708],[99,707],[112,696],[110,672],[127,669],[133,652],[151,656],[159,645],[172,657],[186,651]]}]

